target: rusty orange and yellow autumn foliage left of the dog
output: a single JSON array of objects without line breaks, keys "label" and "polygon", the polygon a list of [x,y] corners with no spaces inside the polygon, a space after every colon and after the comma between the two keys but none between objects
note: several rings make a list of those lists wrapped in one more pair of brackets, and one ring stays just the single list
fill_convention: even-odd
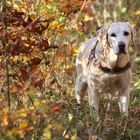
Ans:
[{"label": "rusty orange and yellow autumn foliage left of the dog", "polygon": [[[63,111],[62,103],[57,99],[60,97],[53,95],[56,94],[55,86],[59,94],[65,92],[55,70],[66,61],[63,67],[72,74],[72,63],[67,62],[72,60],[74,50],[64,43],[60,45],[57,40],[72,29],[68,22],[80,11],[82,4],[82,0],[1,2],[1,136],[11,139],[28,137],[30,131],[39,129],[46,117],[51,118],[54,113]],[[69,52],[65,56],[66,50]],[[44,127],[47,129],[46,125],[41,126],[42,131]]]}]

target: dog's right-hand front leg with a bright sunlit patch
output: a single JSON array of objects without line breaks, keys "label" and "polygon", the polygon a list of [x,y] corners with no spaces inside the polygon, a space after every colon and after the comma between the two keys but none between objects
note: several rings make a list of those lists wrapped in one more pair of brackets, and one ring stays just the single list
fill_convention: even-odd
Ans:
[{"label": "dog's right-hand front leg with a bright sunlit patch", "polygon": [[129,87],[119,91],[119,109],[125,116],[128,116],[129,98]]}]

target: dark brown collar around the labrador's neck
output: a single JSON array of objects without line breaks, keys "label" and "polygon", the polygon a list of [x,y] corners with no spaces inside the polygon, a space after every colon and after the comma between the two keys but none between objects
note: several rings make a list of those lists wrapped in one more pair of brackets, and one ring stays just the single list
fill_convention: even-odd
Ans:
[{"label": "dark brown collar around the labrador's neck", "polygon": [[101,63],[99,64],[99,68],[105,72],[105,73],[109,73],[109,74],[119,74],[119,73],[123,73],[126,70],[128,70],[131,67],[131,62],[129,61],[124,67],[115,67],[113,69],[107,68],[107,67],[103,67],[101,65]]}]

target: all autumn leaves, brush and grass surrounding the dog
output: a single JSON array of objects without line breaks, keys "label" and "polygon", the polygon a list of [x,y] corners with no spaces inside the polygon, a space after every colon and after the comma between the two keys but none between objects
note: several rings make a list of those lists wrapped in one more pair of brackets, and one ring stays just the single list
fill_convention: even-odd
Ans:
[{"label": "all autumn leaves, brush and grass surrounding the dog", "polygon": [[86,99],[78,110],[74,97],[82,41],[108,21],[128,19],[140,33],[139,0],[113,5],[111,0],[0,1],[1,140],[140,139],[139,57],[128,120],[114,100],[109,114],[102,102],[102,122],[95,122]]}]

